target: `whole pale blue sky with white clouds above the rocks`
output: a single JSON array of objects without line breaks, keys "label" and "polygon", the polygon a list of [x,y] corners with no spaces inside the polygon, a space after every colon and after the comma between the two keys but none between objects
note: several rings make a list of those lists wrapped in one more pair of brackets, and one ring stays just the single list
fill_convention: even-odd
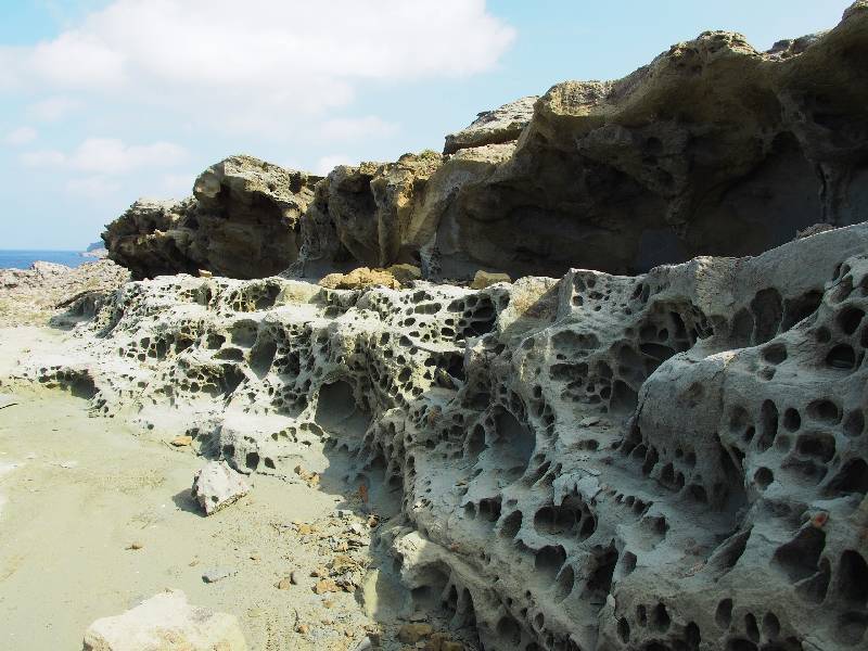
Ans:
[{"label": "whole pale blue sky with white clouds above the rocks", "polygon": [[324,174],[622,77],[706,29],[760,50],[852,0],[0,0],[0,248],[81,250],[231,154]]}]

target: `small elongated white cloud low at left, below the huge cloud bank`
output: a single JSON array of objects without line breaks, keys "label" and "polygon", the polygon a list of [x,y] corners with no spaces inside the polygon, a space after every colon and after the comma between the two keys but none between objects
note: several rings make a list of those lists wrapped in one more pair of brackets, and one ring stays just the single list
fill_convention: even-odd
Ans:
[{"label": "small elongated white cloud low at left, below the huge cloud bank", "polygon": [[187,151],[171,142],[125,144],[114,138],[89,138],[72,153],[58,150],[26,152],[27,167],[61,167],[98,175],[120,175],[142,167],[170,167],[187,157]]}]

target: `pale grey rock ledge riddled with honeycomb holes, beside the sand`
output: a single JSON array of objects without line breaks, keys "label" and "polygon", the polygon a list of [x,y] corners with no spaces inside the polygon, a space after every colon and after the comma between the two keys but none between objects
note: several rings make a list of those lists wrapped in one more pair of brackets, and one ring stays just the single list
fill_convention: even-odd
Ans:
[{"label": "pale grey rock ledge riddled with honeycomb holes, beside the sand", "polygon": [[488,651],[855,651],[866,251],[858,225],[482,291],[163,277],[22,372],[244,473],[349,450],[403,496],[378,532],[412,600]]}]

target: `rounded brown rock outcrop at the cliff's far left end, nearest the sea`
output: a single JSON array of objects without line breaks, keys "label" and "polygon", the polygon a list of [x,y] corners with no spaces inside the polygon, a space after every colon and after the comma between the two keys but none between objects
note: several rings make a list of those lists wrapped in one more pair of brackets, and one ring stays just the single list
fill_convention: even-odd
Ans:
[{"label": "rounded brown rock outcrop at the cliff's far left end, nearest the sea", "polygon": [[272,276],[298,257],[299,220],[319,178],[230,156],[200,175],[192,197],[133,203],[103,233],[108,257],[136,278]]}]

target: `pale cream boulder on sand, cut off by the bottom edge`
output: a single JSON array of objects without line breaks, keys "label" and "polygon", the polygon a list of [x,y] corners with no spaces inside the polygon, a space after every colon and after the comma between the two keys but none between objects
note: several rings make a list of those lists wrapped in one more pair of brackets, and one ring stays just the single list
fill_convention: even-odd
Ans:
[{"label": "pale cream boulder on sand, cut off by the bottom edge", "polygon": [[166,590],[123,615],[103,617],[85,633],[85,651],[246,651],[238,620],[190,605],[180,590]]}]

